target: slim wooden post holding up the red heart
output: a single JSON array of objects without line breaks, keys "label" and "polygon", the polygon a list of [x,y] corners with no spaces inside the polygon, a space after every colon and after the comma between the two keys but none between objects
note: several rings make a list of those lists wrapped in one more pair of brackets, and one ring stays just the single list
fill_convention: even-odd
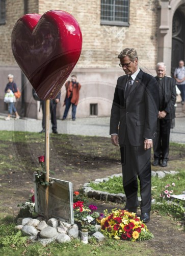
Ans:
[{"label": "slim wooden post holding up the red heart", "polygon": [[[45,182],[49,182],[49,99],[45,101]],[[44,219],[48,220],[48,199],[49,199],[49,186],[45,188],[45,209]]]}]

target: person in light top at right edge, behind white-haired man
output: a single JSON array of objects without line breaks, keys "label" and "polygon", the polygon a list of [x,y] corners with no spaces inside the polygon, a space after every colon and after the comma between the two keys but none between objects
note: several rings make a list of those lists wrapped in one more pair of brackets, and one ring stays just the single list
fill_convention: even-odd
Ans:
[{"label": "person in light top at right edge, behind white-haired man", "polygon": [[180,90],[181,93],[181,104],[184,104],[185,100],[185,67],[184,67],[184,61],[180,60],[178,63],[179,67],[175,69],[174,72],[174,78],[177,83],[177,87]]}]

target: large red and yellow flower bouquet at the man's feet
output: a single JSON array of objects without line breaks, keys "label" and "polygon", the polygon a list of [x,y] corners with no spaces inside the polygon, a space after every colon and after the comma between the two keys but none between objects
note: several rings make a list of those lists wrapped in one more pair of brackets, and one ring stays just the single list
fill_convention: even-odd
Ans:
[{"label": "large red and yellow flower bouquet at the man's feet", "polygon": [[153,238],[146,225],[134,212],[113,209],[109,214],[104,211],[105,218],[101,219],[101,232],[116,240],[143,241]]}]

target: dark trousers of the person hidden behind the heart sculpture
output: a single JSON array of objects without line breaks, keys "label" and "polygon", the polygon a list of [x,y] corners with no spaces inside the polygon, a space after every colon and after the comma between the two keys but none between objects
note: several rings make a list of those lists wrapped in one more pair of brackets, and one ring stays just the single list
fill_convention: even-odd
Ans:
[{"label": "dark trousers of the person hidden behind the heart sculpture", "polygon": [[[42,106],[42,129],[45,129],[45,100],[41,101]],[[51,113],[51,124],[52,124],[52,131],[57,131],[57,103],[55,102],[55,99],[51,99],[49,102],[49,108]]]}]

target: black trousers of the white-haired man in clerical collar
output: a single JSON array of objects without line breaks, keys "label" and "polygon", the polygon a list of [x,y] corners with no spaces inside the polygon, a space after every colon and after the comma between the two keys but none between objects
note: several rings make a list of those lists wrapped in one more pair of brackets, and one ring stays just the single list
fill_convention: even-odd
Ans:
[{"label": "black trousers of the white-haired man in clerical collar", "polygon": [[168,159],[171,120],[158,119],[158,132],[154,141],[154,159]]}]

